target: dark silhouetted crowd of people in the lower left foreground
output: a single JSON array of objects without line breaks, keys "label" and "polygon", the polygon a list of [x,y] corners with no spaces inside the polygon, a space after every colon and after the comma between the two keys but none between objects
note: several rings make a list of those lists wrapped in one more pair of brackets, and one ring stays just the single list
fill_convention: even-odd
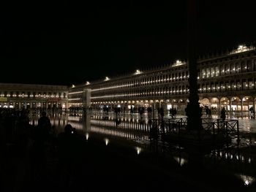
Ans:
[{"label": "dark silhouetted crowd of people in the lower left foreground", "polygon": [[[45,111],[41,112],[37,126],[32,126],[29,123],[28,110],[0,108],[1,154],[4,158],[16,159],[15,164],[4,161],[7,168],[6,172],[1,170],[1,174],[4,174],[5,178],[10,178],[6,179],[7,184],[16,184],[9,186],[15,188],[14,191],[18,191],[19,185],[26,185],[20,183],[20,180],[29,180],[31,185],[38,182],[42,185],[48,181],[46,167],[49,158],[58,161],[59,178],[55,178],[56,181],[59,180],[61,185],[69,185],[71,177],[79,175],[78,166],[83,159],[81,155],[85,141],[86,139],[70,124],[64,126],[64,131],[58,132],[56,127],[51,125]],[[29,174],[29,177],[21,177],[23,174]]]}]

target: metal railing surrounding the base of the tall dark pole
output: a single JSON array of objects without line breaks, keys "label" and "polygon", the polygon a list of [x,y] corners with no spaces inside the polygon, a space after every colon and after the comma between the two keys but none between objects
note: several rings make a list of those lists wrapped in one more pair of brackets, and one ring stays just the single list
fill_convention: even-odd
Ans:
[{"label": "metal railing surrounding the base of the tall dark pole", "polygon": [[[195,133],[195,130],[187,130],[187,118],[153,119],[150,138],[172,142],[181,141],[186,135],[191,140],[208,141],[212,145],[224,141],[231,142],[231,137],[236,137],[238,143],[240,141],[238,120],[202,118],[201,124],[203,129],[198,129]],[[196,138],[190,137],[192,134],[196,135]]]}]

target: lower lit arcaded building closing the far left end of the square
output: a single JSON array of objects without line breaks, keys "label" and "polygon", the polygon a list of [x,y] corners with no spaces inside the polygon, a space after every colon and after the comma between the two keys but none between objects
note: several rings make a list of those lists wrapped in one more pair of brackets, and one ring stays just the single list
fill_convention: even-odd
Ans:
[{"label": "lower lit arcaded building closing the far left end of the square", "polygon": [[67,107],[67,86],[0,84],[0,107],[54,109]]}]

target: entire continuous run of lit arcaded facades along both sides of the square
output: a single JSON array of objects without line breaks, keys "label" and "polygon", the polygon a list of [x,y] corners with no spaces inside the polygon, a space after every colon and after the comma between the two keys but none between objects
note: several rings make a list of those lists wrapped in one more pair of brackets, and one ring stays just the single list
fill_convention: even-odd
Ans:
[{"label": "entire continuous run of lit arcaded facades along both sides of the square", "polygon": [[[186,61],[176,61],[146,71],[119,77],[105,77],[72,87],[59,85],[0,84],[1,107],[175,107],[184,114],[189,97],[189,69]],[[226,53],[197,60],[200,104],[219,111],[246,112],[255,107],[256,50],[241,45]]]}]

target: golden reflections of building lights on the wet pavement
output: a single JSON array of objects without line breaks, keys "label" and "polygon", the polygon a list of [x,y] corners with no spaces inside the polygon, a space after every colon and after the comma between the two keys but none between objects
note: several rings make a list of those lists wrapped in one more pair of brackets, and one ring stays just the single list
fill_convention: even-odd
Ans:
[{"label": "golden reflections of building lights on the wet pavement", "polygon": [[[32,118],[30,123],[37,126],[38,118]],[[176,161],[179,166],[185,167],[191,160],[191,157],[187,158],[187,155],[184,155],[186,148],[167,145],[161,141],[152,145],[149,139],[150,120],[147,118],[140,120],[137,116],[115,118],[91,114],[80,116],[59,115],[50,117],[50,122],[59,131],[63,131],[64,126],[69,123],[76,130],[83,131],[86,140],[89,140],[89,137],[94,137],[95,134],[100,135],[106,146],[110,144],[110,141],[112,145],[112,142],[116,139],[128,140],[129,145],[132,145],[132,150],[139,156],[142,156],[142,152],[144,154],[147,150],[154,149],[157,153],[170,155],[172,161]],[[252,121],[248,123],[246,120],[240,122],[239,120],[239,126],[241,126],[241,145],[237,148],[226,146],[219,150],[212,150],[211,153],[203,155],[203,163],[222,166],[223,169],[237,174],[243,180],[244,185],[251,185],[255,183],[256,177],[256,123]],[[236,138],[233,139],[235,142]],[[180,153],[181,150],[182,153]],[[240,172],[243,172],[243,174],[238,174]]]}]

